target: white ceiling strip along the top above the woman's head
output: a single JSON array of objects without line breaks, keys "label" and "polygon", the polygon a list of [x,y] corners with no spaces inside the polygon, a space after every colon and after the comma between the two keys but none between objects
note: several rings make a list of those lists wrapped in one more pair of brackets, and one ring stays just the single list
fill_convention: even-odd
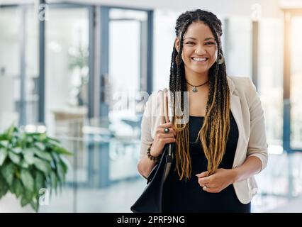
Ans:
[{"label": "white ceiling strip along the top above the woman's head", "polygon": [[[38,0],[0,0],[0,4],[16,4]],[[47,2],[73,2],[82,4],[125,6],[142,9],[164,9],[171,11],[186,11],[205,9],[220,16],[252,15],[253,5],[260,4],[262,16],[282,16],[281,7],[302,6],[302,0],[48,0]]]}]

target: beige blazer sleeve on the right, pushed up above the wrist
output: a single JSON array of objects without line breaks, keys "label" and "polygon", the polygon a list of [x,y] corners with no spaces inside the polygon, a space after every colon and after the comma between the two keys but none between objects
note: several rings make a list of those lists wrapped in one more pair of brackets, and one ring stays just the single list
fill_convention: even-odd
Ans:
[{"label": "beige blazer sleeve on the right, pushed up above the wrist", "polygon": [[265,132],[264,111],[256,91],[256,87],[250,78],[247,78],[250,87],[250,139],[247,146],[247,157],[258,157],[262,162],[262,168],[267,167],[267,137]]}]

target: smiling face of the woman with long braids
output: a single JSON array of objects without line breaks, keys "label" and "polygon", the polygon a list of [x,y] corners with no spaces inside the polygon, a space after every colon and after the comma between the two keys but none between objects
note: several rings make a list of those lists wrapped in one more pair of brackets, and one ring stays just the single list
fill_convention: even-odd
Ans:
[{"label": "smiling face of the woman with long braids", "polygon": [[[179,51],[179,39],[175,42]],[[205,23],[194,22],[187,28],[181,58],[186,74],[208,74],[208,70],[216,62],[217,48],[214,35]]]}]

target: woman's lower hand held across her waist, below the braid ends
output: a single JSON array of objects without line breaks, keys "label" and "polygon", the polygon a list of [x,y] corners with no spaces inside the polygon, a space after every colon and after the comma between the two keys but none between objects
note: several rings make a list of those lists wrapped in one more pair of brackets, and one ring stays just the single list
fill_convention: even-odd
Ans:
[{"label": "woman's lower hand held across her waist, below the braid ends", "polygon": [[218,169],[213,175],[208,176],[208,171],[196,175],[198,184],[206,192],[218,193],[235,182],[233,169]]}]

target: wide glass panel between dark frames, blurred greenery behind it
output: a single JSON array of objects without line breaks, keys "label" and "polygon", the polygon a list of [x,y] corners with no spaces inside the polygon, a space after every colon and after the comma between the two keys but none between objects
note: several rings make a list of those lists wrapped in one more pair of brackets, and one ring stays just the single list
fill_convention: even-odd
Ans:
[{"label": "wide glass panel between dark frames, blurred greenery behind it", "polygon": [[46,123],[88,114],[89,9],[50,7],[45,27]]}]

